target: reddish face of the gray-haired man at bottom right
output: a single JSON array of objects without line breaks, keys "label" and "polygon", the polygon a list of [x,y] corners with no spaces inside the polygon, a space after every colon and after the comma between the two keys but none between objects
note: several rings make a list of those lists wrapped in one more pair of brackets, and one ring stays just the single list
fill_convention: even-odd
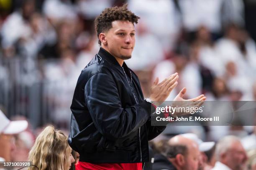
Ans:
[{"label": "reddish face of the gray-haired man at bottom right", "polygon": [[225,153],[223,163],[232,170],[242,170],[246,166],[247,155],[240,142],[234,142]]}]

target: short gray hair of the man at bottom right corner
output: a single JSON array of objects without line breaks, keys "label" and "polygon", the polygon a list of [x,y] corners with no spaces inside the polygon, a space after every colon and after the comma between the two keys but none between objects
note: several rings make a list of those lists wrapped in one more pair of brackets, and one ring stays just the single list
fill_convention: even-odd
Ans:
[{"label": "short gray hair of the man at bottom right corner", "polygon": [[234,135],[228,135],[220,139],[215,150],[216,160],[220,161],[220,156],[223,153],[226,153],[228,149],[230,149],[231,145],[237,141],[240,142],[240,139]]}]

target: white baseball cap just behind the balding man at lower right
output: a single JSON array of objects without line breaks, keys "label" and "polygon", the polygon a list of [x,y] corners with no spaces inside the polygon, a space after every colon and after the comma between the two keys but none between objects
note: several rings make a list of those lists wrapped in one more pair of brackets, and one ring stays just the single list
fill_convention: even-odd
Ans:
[{"label": "white baseball cap just behind the balding man at lower right", "polygon": [[215,142],[203,142],[200,138],[198,138],[198,136],[195,133],[184,133],[181,135],[184,138],[194,140],[198,144],[199,150],[201,152],[206,152],[206,151],[212,149],[212,147],[215,145]]}]

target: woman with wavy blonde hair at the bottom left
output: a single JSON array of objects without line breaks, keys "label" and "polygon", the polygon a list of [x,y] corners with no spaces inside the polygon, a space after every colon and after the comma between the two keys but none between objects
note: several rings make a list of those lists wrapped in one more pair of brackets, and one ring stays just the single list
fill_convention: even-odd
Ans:
[{"label": "woman with wavy blonde hair at the bottom left", "polygon": [[[39,170],[69,170],[74,162],[67,136],[53,126],[47,126],[36,138],[28,160]],[[28,170],[37,170],[31,166]]]}]

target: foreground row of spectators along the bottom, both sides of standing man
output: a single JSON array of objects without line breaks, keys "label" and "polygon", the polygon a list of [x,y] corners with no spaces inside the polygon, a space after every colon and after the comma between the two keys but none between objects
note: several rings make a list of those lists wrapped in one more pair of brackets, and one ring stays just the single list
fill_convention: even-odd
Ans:
[{"label": "foreground row of spectators along the bottom, both sides of standing man", "polygon": [[[28,170],[75,170],[79,154],[68,145],[65,131],[49,125],[34,136],[26,120],[10,121],[2,111],[0,118],[1,170],[21,167],[4,167],[3,161],[29,161]],[[163,135],[150,142],[144,170],[256,170],[255,132],[243,139],[227,135],[216,142],[203,142],[195,133]],[[31,145],[23,133],[32,136]],[[248,148],[248,140],[254,147]]]}]

